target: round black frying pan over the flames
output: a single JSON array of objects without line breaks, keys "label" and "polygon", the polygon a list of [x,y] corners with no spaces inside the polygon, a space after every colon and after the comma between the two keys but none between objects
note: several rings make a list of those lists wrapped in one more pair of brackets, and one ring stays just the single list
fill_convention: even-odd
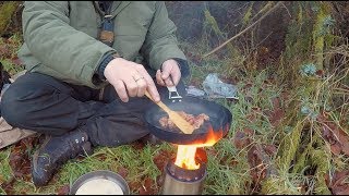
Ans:
[{"label": "round black frying pan over the flames", "polygon": [[205,122],[192,134],[184,134],[181,131],[161,127],[159,119],[167,115],[167,113],[157,105],[149,107],[145,112],[145,121],[147,122],[152,134],[168,143],[179,145],[204,143],[207,140],[209,126],[213,127],[214,132],[221,131],[222,136],[225,136],[230,130],[232,119],[231,112],[224,106],[216,102],[200,98],[184,97],[180,102],[166,101],[164,103],[173,111],[184,111],[194,115],[205,113],[209,117],[209,122]]}]

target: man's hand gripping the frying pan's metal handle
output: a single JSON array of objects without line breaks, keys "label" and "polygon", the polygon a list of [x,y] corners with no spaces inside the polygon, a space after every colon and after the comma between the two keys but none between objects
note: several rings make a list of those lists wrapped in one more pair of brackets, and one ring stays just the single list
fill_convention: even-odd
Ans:
[{"label": "man's hand gripping the frying pan's metal handle", "polygon": [[[181,78],[181,71],[177,61],[169,59],[163,63],[163,72],[156,72],[156,82],[161,86],[176,86]],[[174,84],[173,84],[174,83]]]}]

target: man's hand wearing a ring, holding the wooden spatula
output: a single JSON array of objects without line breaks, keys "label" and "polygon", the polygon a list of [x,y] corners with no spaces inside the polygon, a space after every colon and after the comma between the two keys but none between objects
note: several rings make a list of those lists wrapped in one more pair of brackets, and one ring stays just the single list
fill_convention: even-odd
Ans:
[{"label": "man's hand wearing a ring, holding the wooden spatula", "polygon": [[145,90],[154,101],[160,100],[153,78],[142,64],[116,58],[106,66],[104,74],[123,102],[128,102],[129,97],[144,96]]}]

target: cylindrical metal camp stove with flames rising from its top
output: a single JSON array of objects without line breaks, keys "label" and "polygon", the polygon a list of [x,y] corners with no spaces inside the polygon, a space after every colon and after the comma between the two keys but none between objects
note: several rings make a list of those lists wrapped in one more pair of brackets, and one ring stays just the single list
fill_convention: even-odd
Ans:
[{"label": "cylindrical metal camp stove with flames rising from its top", "polygon": [[203,140],[191,145],[178,145],[176,160],[165,167],[163,195],[198,195],[206,176],[207,156],[203,147],[215,145],[224,136],[222,131],[209,128]]}]

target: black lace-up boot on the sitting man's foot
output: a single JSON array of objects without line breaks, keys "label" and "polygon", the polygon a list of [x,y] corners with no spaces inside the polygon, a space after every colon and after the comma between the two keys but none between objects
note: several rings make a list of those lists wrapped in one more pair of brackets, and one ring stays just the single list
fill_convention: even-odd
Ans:
[{"label": "black lace-up boot on the sitting man's foot", "polygon": [[55,172],[69,159],[79,155],[92,155],[88,136],[84,132],[74,131],[62,136],[47,136],[32,160],[32,176],[36,186],[46,185]]}]

